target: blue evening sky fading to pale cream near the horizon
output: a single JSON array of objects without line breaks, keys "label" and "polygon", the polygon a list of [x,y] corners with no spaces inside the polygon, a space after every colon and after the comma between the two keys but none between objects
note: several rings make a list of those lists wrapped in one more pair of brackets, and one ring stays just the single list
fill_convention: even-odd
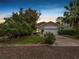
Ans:
[{"label": "blue evening sky fading to pale cream near the horizon", "polygon": [[0,0],[0,19],[11,16],[12,12],[19,11],[20,8],[33,8],[41,12],[38,22],[55,21],[59,16],[63,16],[64,6],[70,0]]}]

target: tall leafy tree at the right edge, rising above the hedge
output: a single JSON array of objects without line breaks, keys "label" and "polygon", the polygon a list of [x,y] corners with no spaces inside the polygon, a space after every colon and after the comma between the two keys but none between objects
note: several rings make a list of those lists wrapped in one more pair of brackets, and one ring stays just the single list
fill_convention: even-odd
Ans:
[{"label": "tall leafy tree at the right edge, rising above the hedge", "polygon": [[78,30],[79,23],[79,0],[73,0],[68,6],[65,6],[64,22],[69,23],[73,28]]}]

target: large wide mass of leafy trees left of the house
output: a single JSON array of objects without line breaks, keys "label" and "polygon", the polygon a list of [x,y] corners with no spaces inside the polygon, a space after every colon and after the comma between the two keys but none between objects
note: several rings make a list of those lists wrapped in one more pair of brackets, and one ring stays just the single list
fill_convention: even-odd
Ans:
[{"label": "large wide mass of leafy trees left of the house", "polygon": [[31,35],[35,30],[36,21],[38,20],[40,13],[31,8],[23,10],[21,8],[19,12],[13,12],[11,17],[4,18],[5,23],[2,30],[9,37],[20,37],[24,35]]}]

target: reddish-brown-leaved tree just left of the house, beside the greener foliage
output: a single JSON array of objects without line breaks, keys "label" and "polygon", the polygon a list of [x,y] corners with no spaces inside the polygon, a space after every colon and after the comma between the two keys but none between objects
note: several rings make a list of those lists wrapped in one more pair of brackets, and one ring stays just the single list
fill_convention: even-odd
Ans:
[{"label": "reddish-brown-leaved tree just left of the house, beside the greener foliage", "polygon": [[[38,13],[36,10],[32,10],[29,8],[28,10],[25,10],[25,21],[31,25],[33,30],[36,30],[36,21],[38,20],[40,13]],[[26,17],[27,16],[27,17]]]}]

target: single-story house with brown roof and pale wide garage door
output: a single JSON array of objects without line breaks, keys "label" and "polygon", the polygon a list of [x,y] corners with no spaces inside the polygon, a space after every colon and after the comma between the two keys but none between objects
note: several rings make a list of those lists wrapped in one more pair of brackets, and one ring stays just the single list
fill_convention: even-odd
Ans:
[{"label": "single-story house with brown roof and pale wide garage door", "polygon": [[41,34],[46,34],[47,32],[57,35],[58,25],[54,22],[42,22],[37,24],[37,32]]}]

